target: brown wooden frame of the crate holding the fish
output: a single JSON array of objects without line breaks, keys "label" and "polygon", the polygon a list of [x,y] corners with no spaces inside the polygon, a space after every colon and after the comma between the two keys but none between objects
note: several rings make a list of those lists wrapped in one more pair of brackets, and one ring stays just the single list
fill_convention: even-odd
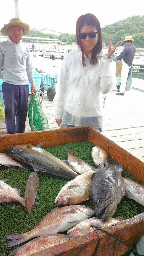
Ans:
[{"label": "brown wooden frame of the crate holding the fish", "polygon": [[[92,142],[94,145],[105,149],[109,156],[117,163],[122,164],[127,172],[144,183],[144,161],[133,156],[91,126],[3,135],[0,136],[0,152],[4,152],[6,148],[13,145],[32,144],[36,146],[42,141],[45,141],[42,146],[43,148],[74,142]],[[123,220],[115,226],[106,227],[105,230],[111,232],[130,246],[133,246],[144,235],[144,213],[128,220]],[[126,245],[108,236],[104,231],[100,231],[100,235],[101,242],[96,254],[97,256],[119,256],[129,250]],[[93,256],[98,240],[98,236],[92,232],[42,252],[35,253],[32,256]]]}]

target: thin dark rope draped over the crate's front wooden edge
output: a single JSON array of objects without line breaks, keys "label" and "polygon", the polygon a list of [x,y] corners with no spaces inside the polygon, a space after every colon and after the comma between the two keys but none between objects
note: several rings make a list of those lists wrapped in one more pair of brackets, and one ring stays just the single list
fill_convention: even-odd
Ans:
[{"label": "thin dark rope draped over the crate's front wooden edge", "polygon": [[[125,243],[125,242],[122,241],[120,238],[118,238],[117,236],[113,235],[111,232],[109,232],[109,231],[107,231],[107,230],[105,230],[105,229],[103,229],[103,228],[99,228],[98,226],[96,226],[96,225],[94,225],[94,224],[93,224],[91,227],[95,227],[95,228],[96,228],[94,231],[95,231],[95,232],[97,233],[97,235],[99,236],[99,241],[98,241],[98,244],[97,244],[97,246],[96,246],[96,249],[95,249],[95,251],[94,251],[93,256],[96,256],[97,251],[98,251],[99,246],[100,246],[100,241],[101,241],[100,233],[99,233],[97,230],[102,230],[102,231],[104,231],[104,232],[105,232],[106,234],[108,234],[109,236],[112,236],[113,238],[115,238],[116,240],[118,240],[119,242],[121,242],[122,244],[124,244],[124,245],[126,245],[127,247],[129,247],[130,250],[133,250],[132,246],[130,246],[129,244]],[[136,255],[136,256],[140,256],[140,255]],[[143,255],[142,255],[142,256],[143,256]]]}]

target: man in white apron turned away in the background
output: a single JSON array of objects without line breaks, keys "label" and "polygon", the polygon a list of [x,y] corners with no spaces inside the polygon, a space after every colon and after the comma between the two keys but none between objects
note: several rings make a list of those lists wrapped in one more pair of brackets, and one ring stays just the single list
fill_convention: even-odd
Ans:
[{"label": "man in white apron turned away in the background", "polygon": [[121,85],[119,92],[116,95],[124,96],[124,92],[131,90],[132,85],[132,62],[136,52],[135,46],[132,44],[134,39],[132,36],[125,36],[124,39],[126,47],[121,52],[118,57],[115,57],[114,60],[122,59],[122,71],[121,71]]}]

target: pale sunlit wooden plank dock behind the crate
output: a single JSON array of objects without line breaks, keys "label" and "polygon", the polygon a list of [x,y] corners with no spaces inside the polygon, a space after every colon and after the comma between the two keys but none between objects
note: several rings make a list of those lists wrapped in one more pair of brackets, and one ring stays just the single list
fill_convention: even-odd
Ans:
[{"label": "pale sunlit wooden plank dock behind the crate", "polygon": [[[124,96],[116,91],[106,96],[103,113],[103,134],[144,161],[144,91],[131,90]],[[49,121],[48,130],[59,129],[55,122],[53,103],[44,96],[42,108]],[[31,131],[28,117],[26,131]],[[0,134],[6,133],[5,120],[0,119]]]}]

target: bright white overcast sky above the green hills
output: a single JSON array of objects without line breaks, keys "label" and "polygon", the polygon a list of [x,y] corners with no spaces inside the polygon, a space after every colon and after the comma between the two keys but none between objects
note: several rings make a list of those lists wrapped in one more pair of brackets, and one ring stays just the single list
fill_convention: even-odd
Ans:
[{"label": "bright white overcast sky above the green hills", "polygon": [[[15,17],[14,0],[1,0],[0,28]],[[77,18],[97,16],[101,27],[133,15],[144,15],[143,0],[19,0],[19,18],[30,28],[75,33]]]}]

